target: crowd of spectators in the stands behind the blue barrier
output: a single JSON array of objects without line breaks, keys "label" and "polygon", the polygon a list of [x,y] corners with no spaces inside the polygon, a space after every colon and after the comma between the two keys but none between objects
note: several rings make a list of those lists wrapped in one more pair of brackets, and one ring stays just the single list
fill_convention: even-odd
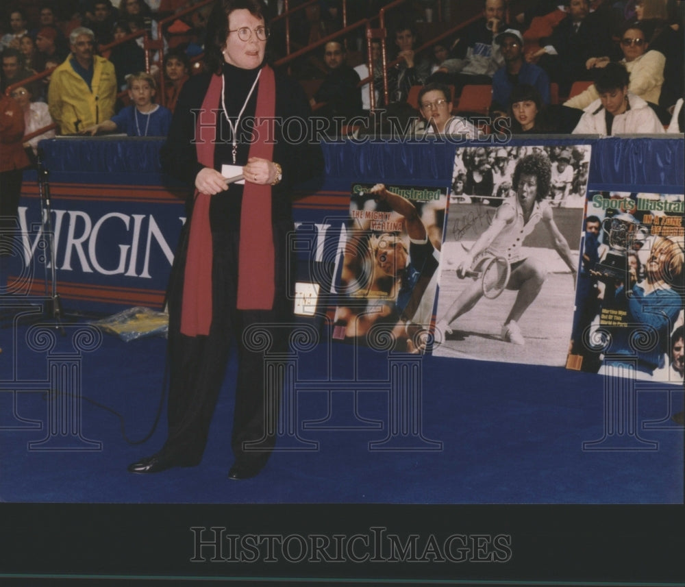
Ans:
[{"label": "crowd of spectators in the stands behind the blue barrier", "polygon": [[[149,124],[148,113],[173,112],[183,84],[201,67],[192,58],[203,51],[211,5],[175,17],[199,1],[15,0],[0,15],[0,91],[11,86],[32,131],[54,122],[58,134],[162,133],[166,126]],[[362,27],[319,43],[289,66],[303,84],[316,78],[310,97],[317,116],[362,121],[366,130],[376,119],[373,104],[409,121],[401,127],[412,133],[682,132],[682,0],[539,0],[521,14],[507,0],[482,1],[480,18],[437,42],[421,38],[419,31],[425,36],[429,29],[417,21],[423,7],[430,20],[440,0],[408,1],[410,10],[391,13],[385,47],[374,39],[366,55]],[[302,2],[290,0],[290,8]],[[265,3],[268,18],[282,14],[282,0]],[[386,3],[348,0],[347,23],[376,15]],[[450,3],[442,5],[447,10]],[[455,12],[451,5],[452,25],[460,20]],[[343,1],[319,0],[288,20],[296,51],[342,29]],[[285,42],[285,19],[276,18],[272,60],[286,55]],[[390,64],[386,79],[382,49]],[[143,80],[142,73],[149,75]],[[151,103],[140,105],[134,86],[143,82]],[[490,88],[484,104],[490,125],[473,124],[475,112],[464,107],[464,88],[474,85]],[[127,123],[125,108],[132,109]],[[148,124],[141,125],[144,116]],[[37,140],[27,147],[35,150]]]}]

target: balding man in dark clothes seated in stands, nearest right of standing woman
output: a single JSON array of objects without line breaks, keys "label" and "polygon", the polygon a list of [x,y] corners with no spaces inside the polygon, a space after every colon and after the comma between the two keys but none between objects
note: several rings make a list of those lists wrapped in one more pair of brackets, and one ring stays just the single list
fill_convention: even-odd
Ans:
[{"label": "balding man in dark clothes seated in stands, nearest right of standing woman", "polygon": [[343,117],[346,121],[362,114],[360,77],[347,64],[345,45],[338,41],[327,42],[323,60],[328,73],[310,100],[314,114],[325,118]]}]

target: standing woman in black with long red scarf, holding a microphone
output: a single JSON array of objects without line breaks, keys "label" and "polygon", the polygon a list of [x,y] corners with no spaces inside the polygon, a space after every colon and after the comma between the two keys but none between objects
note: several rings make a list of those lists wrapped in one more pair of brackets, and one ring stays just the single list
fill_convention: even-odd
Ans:
[{"label": "standing woman in black with long red scarf, holding a microphone", "polygon": [[[129,466],[132,473],[199,464],[232,339],[238,377],[229,478],[257,475],[275,445],[280,389],[264,384],[263,355],[288,349],[290,189],[319,173],[323,160],[301,134],[310,114],[303,90],[264,61],[264,14],[259,0],[216,2],[211,73],[184,85],[162,148],[164,171],[194,183],[195,197],[169,285],[168,438]],[[298,136],[289,140],[288,130]],[[227,182],[239,174],[244,184]],[[251,348],[255,335],[269,340],[267,351]]]}]

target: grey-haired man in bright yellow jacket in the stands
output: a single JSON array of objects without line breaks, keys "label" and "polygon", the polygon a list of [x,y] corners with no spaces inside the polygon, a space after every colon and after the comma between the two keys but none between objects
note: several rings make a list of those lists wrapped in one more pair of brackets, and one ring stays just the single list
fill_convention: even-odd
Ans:
[{"label": "grey-haired man in bright yellow jacket in the stands", "polygon": [[72,54],[51,76],[48,105],[62,134],[75,134],[114,115],[114,65],[95,55],[94,38],[86,27],[74,29],[69,36]]}]

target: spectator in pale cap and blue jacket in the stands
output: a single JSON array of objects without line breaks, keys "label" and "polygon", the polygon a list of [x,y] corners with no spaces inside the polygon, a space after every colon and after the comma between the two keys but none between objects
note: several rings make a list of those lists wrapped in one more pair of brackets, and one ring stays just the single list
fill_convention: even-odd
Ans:
[{"label": "spectator in pale cap and blue jacket in the stands", "polygon": [[549,77],[545,70],[523,59],[523,35],[516,29],[506,29],[495,38],[504,57],[504,66],[493,75],[491,110],[507,112],[512,90],[521,84],[533,86],[540,92],[543,103],[549,105]]}]

